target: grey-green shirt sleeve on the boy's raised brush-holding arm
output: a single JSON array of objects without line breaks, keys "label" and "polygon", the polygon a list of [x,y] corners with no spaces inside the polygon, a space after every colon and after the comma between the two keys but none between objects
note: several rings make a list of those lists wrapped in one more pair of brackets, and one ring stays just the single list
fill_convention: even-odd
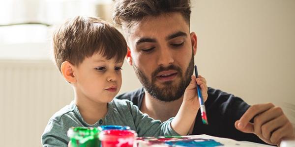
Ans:
[{"label": "grey-green shirt sleeve on the boy's raised brush-holding arm", "polygon": [[131,110],[133,121],[139,137],[141,136],[178,136],[179,134],[171,127],[173,118],[161,123],[159,120],[143,114],[131,101],[127,102]]}]

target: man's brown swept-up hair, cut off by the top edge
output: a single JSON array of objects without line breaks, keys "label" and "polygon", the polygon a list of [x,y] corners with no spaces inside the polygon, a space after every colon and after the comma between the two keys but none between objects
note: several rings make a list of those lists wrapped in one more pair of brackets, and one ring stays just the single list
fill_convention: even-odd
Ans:
[{"label": "man's brown swept-up hair, cut off by the top edge", "polygon": [[190,0],[114,0],[115,12],[113,21],[119,25],[130,27],[146,16],[159,16],[163,13],[179,12],[189,25]]}]

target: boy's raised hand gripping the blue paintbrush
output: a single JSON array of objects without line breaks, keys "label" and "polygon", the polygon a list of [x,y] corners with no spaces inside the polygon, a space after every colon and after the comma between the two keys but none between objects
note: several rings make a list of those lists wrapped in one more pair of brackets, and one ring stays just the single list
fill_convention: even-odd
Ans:
[{"label": "boy's raised hand gripping the blue paintbrush", "polygon": [[185,92],[184,92],[184,95],[183,95],[183,102],[188,102],[189,104],[192,104],[194,106],[198,106],[198,107],[195,107],[195,108],[197,108],[199,110],[200,103],[199,103],[199,99],[198,99],[197,84],[201,88],[201,93],[202,93],[204,102],[207,100],[207,98],[208,98],[208,94],[207,94],[208,88],[207,88],[206,79],[204,77],[202,77],[201,75],[199,75],[198,78],[196,78],[196,76],[192,75],[191,76],[191,82],[189,83],[189,85],[185,89]]}]

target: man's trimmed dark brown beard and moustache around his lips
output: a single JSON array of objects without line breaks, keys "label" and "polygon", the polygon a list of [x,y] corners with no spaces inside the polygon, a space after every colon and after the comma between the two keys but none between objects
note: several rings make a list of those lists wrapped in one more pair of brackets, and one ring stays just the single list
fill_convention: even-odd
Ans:
[{"label": "man's trimmed dark brown beard and moustache around his lips", "polygon": [[[148,80],[148,76],[143,73],[135,64],[133,64],[133,69],[139,78],[140,82],[148,93],[161,101],[174,101],[184,94],[184,91],[191,81],[191,75],[194,71],[194,56],[192,55],[191,61],[186,69],[183,76],[183,72],[180,67],[175,65],[170,65],[168,67],[158,67],[153,73],[151,73],[151,82]],[[162,71],[175,70],[177,71],[177,76],[180,76],[180,83],[173,83],[173,81],[164,82],[164,87],[159,88],[156,84],[156,75]]]}]

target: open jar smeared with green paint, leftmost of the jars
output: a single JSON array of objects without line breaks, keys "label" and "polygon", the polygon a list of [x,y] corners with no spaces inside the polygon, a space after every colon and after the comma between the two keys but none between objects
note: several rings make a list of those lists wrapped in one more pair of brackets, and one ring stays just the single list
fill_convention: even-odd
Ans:
[{"label": "open jar smeared with green paint, leftmost of the jars", "polygon": [[100,147],[100,132],[101,129],[95,127],[71,127],[67,136],[70,138],[71,147]]}]

